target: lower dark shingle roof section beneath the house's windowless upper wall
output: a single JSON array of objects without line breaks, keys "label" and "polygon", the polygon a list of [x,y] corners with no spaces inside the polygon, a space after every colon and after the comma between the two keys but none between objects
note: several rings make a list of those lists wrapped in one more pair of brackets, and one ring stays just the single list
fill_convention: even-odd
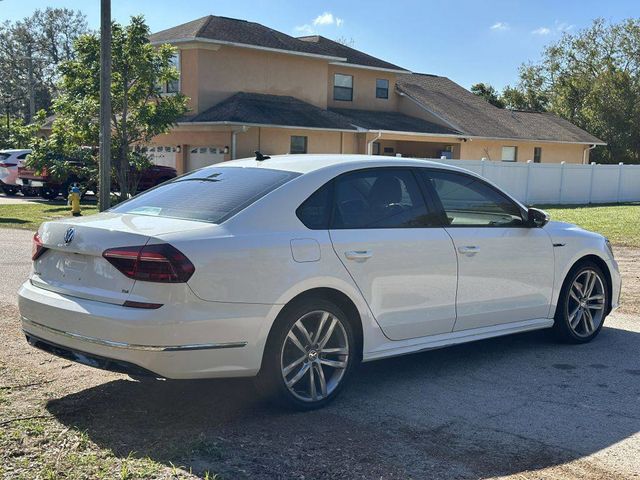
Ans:
[{"label": "lower dark shingle roof section beneath the house's windowless upper wall", "polygon": [[355,130],[345,117],[297,98],[246,92],[236,93],[186,121]]}]

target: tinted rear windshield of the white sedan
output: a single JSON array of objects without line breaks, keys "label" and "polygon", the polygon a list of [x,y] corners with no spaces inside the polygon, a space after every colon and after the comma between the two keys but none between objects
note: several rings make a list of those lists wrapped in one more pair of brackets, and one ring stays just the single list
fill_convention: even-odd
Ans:
[{"label": "tinted rear windshield of the white sedan", "polygon": [[110,211],[222,223],[299,173],[208,167],[137,195]]}]

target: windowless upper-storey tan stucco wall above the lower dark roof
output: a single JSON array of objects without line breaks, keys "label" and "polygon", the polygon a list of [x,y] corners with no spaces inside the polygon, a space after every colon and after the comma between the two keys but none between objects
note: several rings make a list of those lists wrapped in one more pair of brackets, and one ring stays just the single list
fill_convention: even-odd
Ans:
[{"label": "windowless upper-storey tan stucco wall above the lower dark roof", "polygon": [[231,46],[181,49],[182,92],[201,112],[237,92],[290,95],[327,106],[327,61]]}]

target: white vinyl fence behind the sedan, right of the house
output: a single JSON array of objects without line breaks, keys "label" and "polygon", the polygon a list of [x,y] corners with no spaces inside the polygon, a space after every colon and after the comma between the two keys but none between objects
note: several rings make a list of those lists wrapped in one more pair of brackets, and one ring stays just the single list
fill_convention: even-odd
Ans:
[{"label": "white vinyl fence behind the sedan, right of the house", "polygon": [[640,202],[640,165],[434,161],[476,172],[527,205]]}]

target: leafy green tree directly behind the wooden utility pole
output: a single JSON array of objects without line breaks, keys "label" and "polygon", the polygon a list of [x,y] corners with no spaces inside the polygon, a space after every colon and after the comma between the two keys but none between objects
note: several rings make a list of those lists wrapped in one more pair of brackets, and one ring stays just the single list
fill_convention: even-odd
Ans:
[{"label": "leafy green tree directly behind the wooden utility pole", "polygon": [[[140,147],[167,132],[187,111],[181,93],[163,94],[160,85],[178,79],[173,66],[175,49],[152,46],[149,28],[141,16],[129,25],[112,25],[111,158],[121,198],[135,193],[139,172],[149,166]],[[97,174],[100,106],[100,39],[80,37],[74,59],[60,64],[59,96],[54,102],[56,119],[50,137],[30,156],[42,168],[56,158],[90,157]],[[60,169],[64,165],[58,165]],[[94,177],[95,178],[95,177]]]}]

